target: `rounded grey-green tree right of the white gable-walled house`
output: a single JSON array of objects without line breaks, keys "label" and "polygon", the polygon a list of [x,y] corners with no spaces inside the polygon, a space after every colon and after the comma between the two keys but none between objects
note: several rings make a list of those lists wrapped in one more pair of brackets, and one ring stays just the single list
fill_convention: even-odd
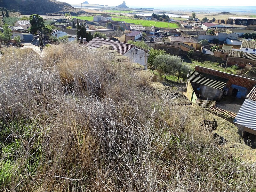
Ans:
[{"label": "rounded grey-green tree right of the white gable-walled house", "polygon": [[173,56],[170,54],[157,55],[154,59],[154,66],[158,70],[159,75],[175,75],[181,66],[182,61],[180,57]]}]

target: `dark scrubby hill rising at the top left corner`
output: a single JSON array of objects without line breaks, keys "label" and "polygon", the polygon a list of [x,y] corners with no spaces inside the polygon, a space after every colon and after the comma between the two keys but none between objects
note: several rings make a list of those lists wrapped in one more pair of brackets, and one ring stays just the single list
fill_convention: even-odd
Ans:
[{"label": "dark scrubby hill rising at the top left corner", "polygon": [[70,12],[71,15],[79,15],[85,13],[85,11],[76,9],[68,3],[56,0],[0,0],[0,6],[5,7],[8,10],[15,10],[24,15],[64,15],[68,12]]}]

